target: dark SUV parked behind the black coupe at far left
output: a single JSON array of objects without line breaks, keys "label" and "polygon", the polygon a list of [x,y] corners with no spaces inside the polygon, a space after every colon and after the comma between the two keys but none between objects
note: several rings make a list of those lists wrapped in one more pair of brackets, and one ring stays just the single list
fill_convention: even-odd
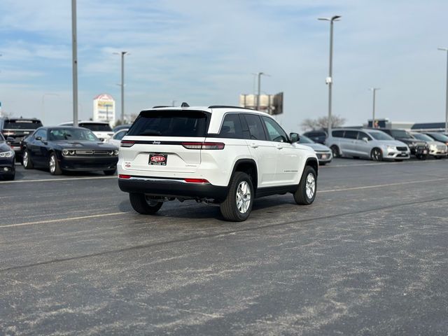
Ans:
[{"label": "dark SUV parked behind the black coupe at far left", "polygon": [[[41,120],[36,118],[0,118],[0,132],[7,139],[10,148],[13,148],[16,161],[22,160],[20,149],[22,140],[41,126]],[[9,141],[11,138],[14,140]]]}]

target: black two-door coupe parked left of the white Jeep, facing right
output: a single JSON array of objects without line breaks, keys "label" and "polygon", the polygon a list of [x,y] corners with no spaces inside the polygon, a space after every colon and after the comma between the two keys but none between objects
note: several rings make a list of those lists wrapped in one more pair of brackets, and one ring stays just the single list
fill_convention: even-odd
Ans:
[{"label": "black two-door coupe parked left of the white Jeep, facing right", "polygon": [[52,175],[103,171],[115,174],[118,148],[105,144],[83,127],[40,127],[22,141],[25,169],[41,167]]}]

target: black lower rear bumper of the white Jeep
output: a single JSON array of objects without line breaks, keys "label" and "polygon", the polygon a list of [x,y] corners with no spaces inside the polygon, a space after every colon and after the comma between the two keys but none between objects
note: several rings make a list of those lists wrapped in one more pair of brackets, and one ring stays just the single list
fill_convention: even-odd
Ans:
[{"label": "black lower rear bumper of the white Jeep", "polygon": [[131,176],[118,179],[118,186],[125,193],[141,193],[163,197],[207,198],[222,202],[228,194],[228,187],[211,183],[188,183],[183,179],[160,179],[156,177]]}]

